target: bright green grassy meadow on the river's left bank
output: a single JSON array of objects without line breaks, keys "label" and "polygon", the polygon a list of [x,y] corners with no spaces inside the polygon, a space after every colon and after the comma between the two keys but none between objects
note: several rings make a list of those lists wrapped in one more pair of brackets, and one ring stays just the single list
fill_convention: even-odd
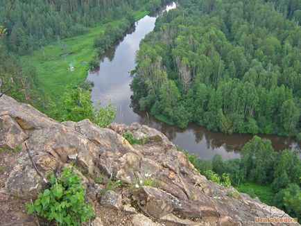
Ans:
[{"label": "bright green grassy meadow on the river's left bank", "polygon": [[[141,9],[133,13],[135,19],[139,20],[147,15],[148,11]],[[118,26],[120,22],[121,19],[117,19],[109,23],[112,26]],[[67,85],[74,86],[85,81],[89,61],[96,55],[94,39],[105,31],[109,23],[90,28],[85,35],[58,40],[42,46],[20,58],[23,68],[32,65],[37,70],[39,89],[42,89],[44,96],[55,101],[62,96]],[[69,71],[69,67],[74,67],[74,71]]]}]

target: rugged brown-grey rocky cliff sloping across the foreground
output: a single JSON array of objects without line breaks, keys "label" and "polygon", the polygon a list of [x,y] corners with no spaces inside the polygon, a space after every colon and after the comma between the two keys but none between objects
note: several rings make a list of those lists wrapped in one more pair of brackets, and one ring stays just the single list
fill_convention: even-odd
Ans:
[{"label": "rugged brown-grey rocky cliff sloping across the foreground", "polygon": [[[144,137],[146,144],[130,145],[121,136],[126,131],[137,139]],[[26,216],[24,200],[35,198],[43,183],[25,144],[43,175],[75,164],[87,200],[96,209],[92,225],[258,225],[256,217],[287,216],[231,187],[209,182],[164,134],[146,125],[113,123],[99,128],[89,120],[59,123],[2,96],[0,132],[1,223],[36,222]],[[94,175],[103,175],[103,182],[93,180]],[[139,186],[146,177],[152,177],[155,186]],[[103,194],[109,178],[122,180],[123,186]],[[137,188],[130,189],[133,185]]]}]

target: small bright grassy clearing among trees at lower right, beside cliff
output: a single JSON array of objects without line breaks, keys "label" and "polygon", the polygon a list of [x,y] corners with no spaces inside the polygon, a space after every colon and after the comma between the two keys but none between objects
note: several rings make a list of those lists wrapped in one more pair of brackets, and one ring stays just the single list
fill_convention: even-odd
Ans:
[{"label": "small bright grassy clearing among trees at lower right, beside cliff", "polygon": [[275,193],[273,192],[272,186],[255,184],[253,182],[245,182],[236,186],[237,191],[247,193],[252,198],[258,197],[261,202],[267,205],[273,206],[273,200]]}]

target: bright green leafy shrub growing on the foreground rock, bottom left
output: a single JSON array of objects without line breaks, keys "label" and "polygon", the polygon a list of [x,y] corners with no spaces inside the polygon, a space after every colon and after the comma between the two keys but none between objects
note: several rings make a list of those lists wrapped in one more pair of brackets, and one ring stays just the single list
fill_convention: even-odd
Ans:
[{"label": "bright green leafy shrub growing on the foreground rock, bottom left", "polygon": [[48,180],[51,187],[40,192],[35,202],[26,203],[28,214],[55,220],[58,225],[80,225],[95,217],[91,205],[85,203],[80,177],[72,168],[64,168],[58,178],[49,173]]}]

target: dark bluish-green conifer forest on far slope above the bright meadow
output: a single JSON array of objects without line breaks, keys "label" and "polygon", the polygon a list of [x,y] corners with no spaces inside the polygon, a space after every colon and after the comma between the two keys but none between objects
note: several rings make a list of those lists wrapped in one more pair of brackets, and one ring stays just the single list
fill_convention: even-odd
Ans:
[{"label": "dark bluish-green conifer forest on far slope above the bright meadow", "polygon": [[[10,2],[0,2],[0,24]],[[132,11],[142,6],[149,11],[155,10],[161,6],[161,1],[17,0],[7,24],[8,46],[11,51],[26,54],[55,39],[83,34],[87,27],[105,21],[132,19]]]}]

